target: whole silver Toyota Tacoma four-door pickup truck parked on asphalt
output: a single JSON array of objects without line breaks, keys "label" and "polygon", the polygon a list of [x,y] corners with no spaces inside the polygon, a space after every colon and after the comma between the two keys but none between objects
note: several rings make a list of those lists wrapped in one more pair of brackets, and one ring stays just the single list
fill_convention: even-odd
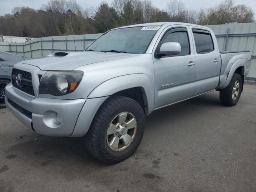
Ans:
[{"label": "whole silver Toyota Tacoma four-door pickup truck parked on asphalt", "polygon": [[210,28],[162,22],[112,29],[84,52],[15,64],[6,107],[38,134],[84,137],[99,160],[117,163],[139,146],[145,116],[217,90],[234,106],[249,51],[219,52]]}]

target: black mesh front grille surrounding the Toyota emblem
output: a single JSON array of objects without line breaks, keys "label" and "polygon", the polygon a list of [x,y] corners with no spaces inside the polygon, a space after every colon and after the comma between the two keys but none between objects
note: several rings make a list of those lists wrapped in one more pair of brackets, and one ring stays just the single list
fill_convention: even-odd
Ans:
[{"label": "black mesh front grille surrounding the Toyota emblem", "polygon": [[[21,80],[22,83],[20,86],[16,83],[16,77],[18,74],[21,74],[21,76],[22,76],[22,80]],[[33,84],[32,84],[32,74],[30,72],[15,69],[15,68],[12,69],[12,85],[15,88],[17,88],[27,94],[35,96]]]}]

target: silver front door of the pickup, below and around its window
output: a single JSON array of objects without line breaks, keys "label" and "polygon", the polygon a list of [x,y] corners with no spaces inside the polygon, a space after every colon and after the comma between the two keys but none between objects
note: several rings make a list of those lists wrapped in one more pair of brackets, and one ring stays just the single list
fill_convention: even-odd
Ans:
[{"label": "silver front door of the pickup, below and around its window", "polygon": [[[166,29],[153,51],[155,72],[155,108],[160,108],[187,98],[195,93],[196,56],[192,36],[187,27]],[[161,44],[178,42],[181,52],[178,55],[157,58]]]}]

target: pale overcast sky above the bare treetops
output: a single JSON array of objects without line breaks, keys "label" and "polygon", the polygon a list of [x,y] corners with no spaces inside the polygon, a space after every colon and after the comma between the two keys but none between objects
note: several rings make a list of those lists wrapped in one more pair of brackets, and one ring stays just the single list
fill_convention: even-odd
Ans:
[{"label": "pale overcast sky above the bare treetops", "polygon": [[[111,4],[112,0],[104,0]],[[165,9],[169,0],[152,0],[154,6]],[[186,8],[200,9],[208,8],[209,6],[215,6],[222,0],[182,0]],[[28,6],[30,8],[38,9],[41,4],[46,4],[48,0],[0,0],[0,15],[11,13],[14,7]],[[97,7],[102,0],[76,0],[83,8]],[[235,4],[246,4],[250,6],[254,12],[256,12],[256,0],[236,0]]]}]

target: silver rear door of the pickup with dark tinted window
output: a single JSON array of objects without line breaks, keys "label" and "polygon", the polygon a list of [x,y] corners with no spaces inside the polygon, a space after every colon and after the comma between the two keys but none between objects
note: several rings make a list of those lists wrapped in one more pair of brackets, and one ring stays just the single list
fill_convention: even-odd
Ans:
[{"label": "silver rear door of the pickup with dark tinted window", "polygon": [[195,95],[216,89],[221,68],[216,38],[209,30],[191,27],[196,55]]}]

